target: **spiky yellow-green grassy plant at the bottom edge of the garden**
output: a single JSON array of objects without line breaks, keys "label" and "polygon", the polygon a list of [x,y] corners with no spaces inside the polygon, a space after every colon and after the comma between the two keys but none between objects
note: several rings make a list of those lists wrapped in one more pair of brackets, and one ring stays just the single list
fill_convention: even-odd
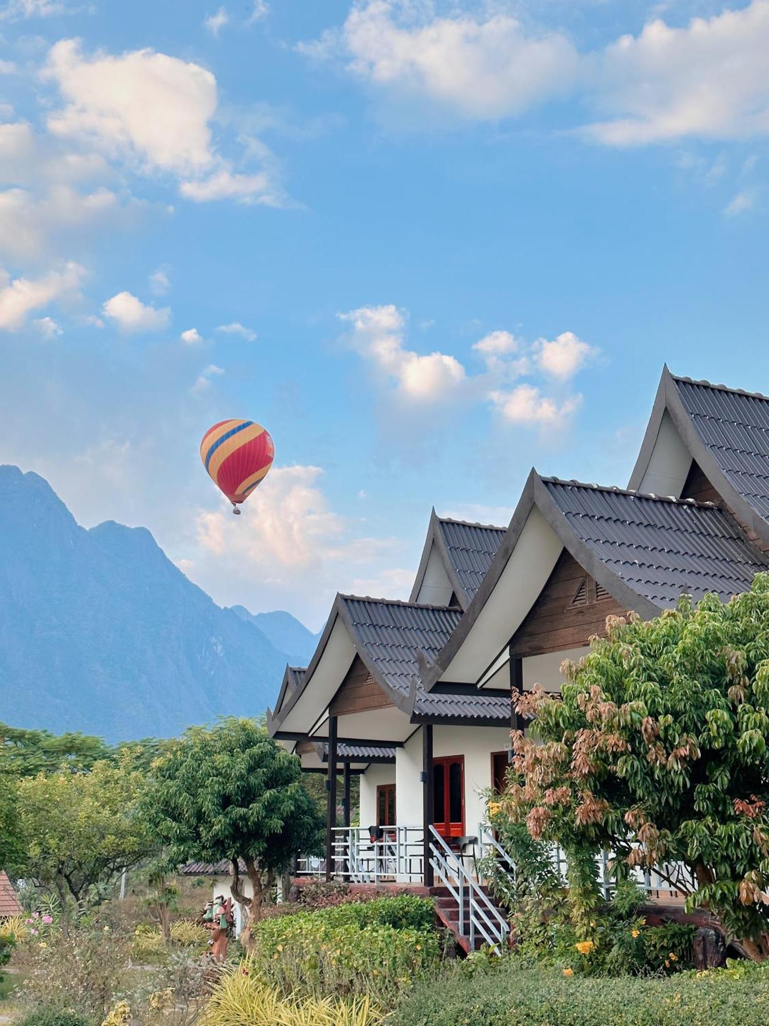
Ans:
[{"label": "spiky yellow-green grassy plant at the bottom edge of the garden", "polygon": [[376,1026],[380,1021],[366,996],[286,998],[238,968],[214,988],[200,1026]]}]

